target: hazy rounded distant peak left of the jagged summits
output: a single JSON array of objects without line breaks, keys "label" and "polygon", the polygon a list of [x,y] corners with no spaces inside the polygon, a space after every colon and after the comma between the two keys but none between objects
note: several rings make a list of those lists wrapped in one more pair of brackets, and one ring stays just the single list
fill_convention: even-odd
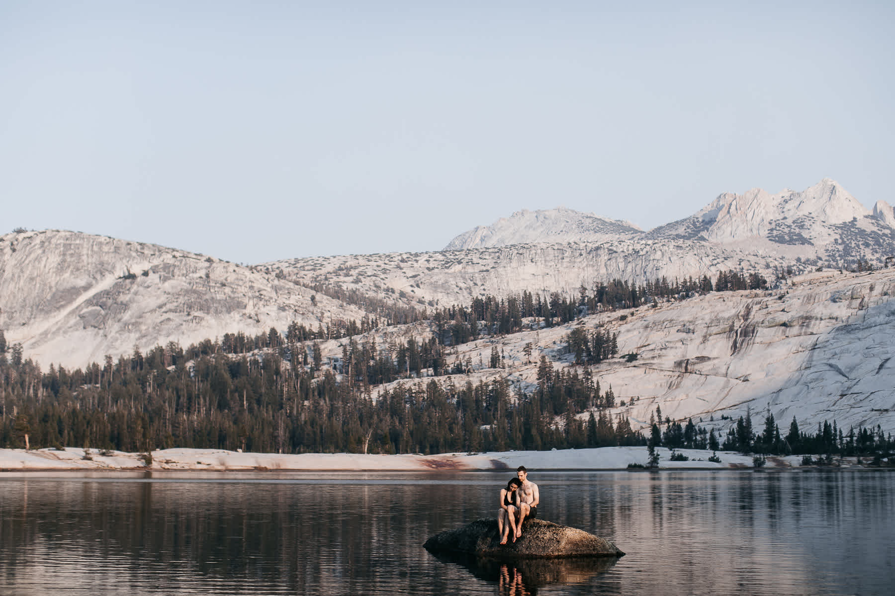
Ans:
[{"label": "hazy rounded distant peak left of the jagged summits", "polygon": [[502,217],[490,226],[477,226],[452,239],[445,250],[504,247],[536,242],[600,241],[641,234],[631,222],[581,213],[566,207],[529,211]]}]

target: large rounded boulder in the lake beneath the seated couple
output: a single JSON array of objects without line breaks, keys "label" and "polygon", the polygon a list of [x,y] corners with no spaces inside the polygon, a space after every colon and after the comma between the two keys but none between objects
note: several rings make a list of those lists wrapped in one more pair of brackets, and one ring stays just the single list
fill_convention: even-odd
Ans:
[{"label": "large rounded boulder in the lake beneath the seated couple", "polygon": [[498,520],[477,519],[437,533],[423,544],[430,552],[462,552],[494,558],[621,557],[625,553],[592,533],[541,519],[526,520],[522,537],[500,544]]}]

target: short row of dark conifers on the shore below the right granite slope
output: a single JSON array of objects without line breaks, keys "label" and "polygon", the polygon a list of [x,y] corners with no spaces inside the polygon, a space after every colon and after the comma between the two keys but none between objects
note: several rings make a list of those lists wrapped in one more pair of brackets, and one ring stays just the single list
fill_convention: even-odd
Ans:
[{"label": "short row of dark conifers on the shore below the right granite slope", "polygon": [[730,425],[723,441],[715,436],[714,429],[707,436],[704,435],[692,420],[682,425],[666,416],[663,424],[661,407],[656,407],[655,414],[650,416],[650,425],[652,444],[671,449],[723,449],[763,455],[816,454],[830,457],[869,456],[895,450],[891,434],[885,436],[879,425],[875,429],[858,427],[856,430],[849,427],[848,432],[843,432],[837,427],[835,420],[832,424],[823,421],[823,424],[817,424],[817,432],[812,434],[801,431],[793,416],[788,432],[781,435],[780,426],[769,412],[764,417],[762,429],[756,432],[752,425],[752,413],[748,408],[745,417],[739,416],[737,422]]}]

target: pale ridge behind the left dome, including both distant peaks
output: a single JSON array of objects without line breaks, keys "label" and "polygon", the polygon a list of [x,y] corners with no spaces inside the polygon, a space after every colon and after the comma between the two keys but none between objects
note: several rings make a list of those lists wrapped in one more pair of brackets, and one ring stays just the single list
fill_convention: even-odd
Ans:
[{"label": "pale ridge behind the left dome, including both distant peaks", "polygon": [[825,179],[801,192],[725,193],[696,214],[647,232],[565,208],[520,211],[460,234],[439,252],[286,259],[265,266],[305,286],[445,306],[523,290],[574,294],[613,279],[644,284],[663,276],[742,271],[775,280],[817,266],[882,266],[895,255],[889,221],[895,221],[890,206],[880,202],[872,214]]}]

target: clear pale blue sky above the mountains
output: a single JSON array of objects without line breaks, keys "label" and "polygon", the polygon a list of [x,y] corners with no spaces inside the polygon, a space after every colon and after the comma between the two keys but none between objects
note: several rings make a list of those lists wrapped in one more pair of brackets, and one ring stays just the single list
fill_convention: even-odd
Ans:
[{"label": "clear pale blue sky above the mountains", "polygon": [[[621,5],[624,4],[624,5]],[[891,2],[0,3],[0,233],[255,264],[521,209],[895,203]]]}]

